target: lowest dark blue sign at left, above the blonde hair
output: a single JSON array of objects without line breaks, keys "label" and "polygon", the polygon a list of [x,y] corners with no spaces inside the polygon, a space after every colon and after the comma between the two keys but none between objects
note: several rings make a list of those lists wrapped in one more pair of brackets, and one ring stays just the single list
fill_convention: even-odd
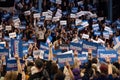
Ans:
[{"label": "lowest dark blue sign at left, above the blonde hair", "polygon": [[[6,67],[7,71],[17,71],[18,70],[16,59],[8,59],[6,62],[7,62],[7,67]],[[20,60],[20,63],[23,64],[24,61]]]}]

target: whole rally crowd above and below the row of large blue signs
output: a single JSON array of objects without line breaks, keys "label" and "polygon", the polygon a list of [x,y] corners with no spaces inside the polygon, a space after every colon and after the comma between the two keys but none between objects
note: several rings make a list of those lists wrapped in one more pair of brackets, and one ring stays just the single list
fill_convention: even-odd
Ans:
[{"label": "whole rally crowd above and below the row of large blue signs", "polygon": [[[114,22],[108,20],[102,11],[98,12],[97,0],[43,0],[42,12],[39,12],[38,2],[15,0],[13,11],[0,10],[0,41],[5,42],[6,49],[10,48],[9,33],[16,33],[14,39],[34,42],[29,44],[23,58],[14,54],[17,71],[6,71],[6,57],[1,55],[0,80],[120,80],[119,56],[116,62],[111,63],[108,56],[104,63],[100,63],[88,49],[88,62],[82,64],[77,58],[78,51],[74,50],[74,65],[66,61],[64,67],[59,67],[53,60],[52,51],[53,47],[57,50],[61,44],[81,39],[111,50],[115,46],[113,38],[120,35],[120,18]],[[28,61],[28,57],[33,57],[33,51],[39,50],[40,44],[46,43],[49,37],[52,39],[47,44],[48,60],[38,57]]]}]

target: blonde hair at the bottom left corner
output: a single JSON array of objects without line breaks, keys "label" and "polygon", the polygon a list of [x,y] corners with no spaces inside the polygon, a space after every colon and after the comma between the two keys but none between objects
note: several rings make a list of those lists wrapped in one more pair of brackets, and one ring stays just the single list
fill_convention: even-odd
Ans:
[{"label": "blonde hair at the bottom left corner", "polygon": [[17,75],[17,71],[7,71],[4,80],[16,80]]}]

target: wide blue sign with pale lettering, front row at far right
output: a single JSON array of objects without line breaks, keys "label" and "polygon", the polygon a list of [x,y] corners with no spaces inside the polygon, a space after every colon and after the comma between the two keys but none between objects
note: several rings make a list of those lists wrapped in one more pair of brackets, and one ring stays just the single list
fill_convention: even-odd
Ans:
[{"label": "wide blue sign with pale lettering, front row at far right", "polygon": [[99,51],[99,60],[105,61],[105,58],[110,57],[111,62],[115,62],[118,59],[118,53],[115,50]]}]

